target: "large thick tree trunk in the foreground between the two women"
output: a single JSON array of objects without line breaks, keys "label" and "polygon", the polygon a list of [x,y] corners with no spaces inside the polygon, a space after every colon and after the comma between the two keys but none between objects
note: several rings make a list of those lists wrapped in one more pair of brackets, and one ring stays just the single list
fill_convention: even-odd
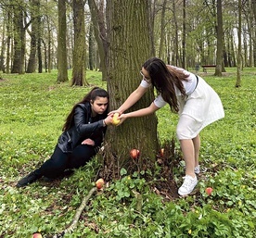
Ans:
[{"label": "large thick tree trunk in the foreground between the two women", "polygon": [[[107,2],[110,109],[121,106],[139,85],[141,65],[151,54],[147,4],[144,0],[122,1],[122,5],[115,0]],[[131,110],[149,106],[153,98],[153,89],[149,89]],[[107,144],[111,154],[106,158],[107,166],[114,165],[117,171],[121,168],[146,169],[149,161],[155,159],[159,145],[156,116],[128,119],[120,127],[109,127]],[[140,159],[129,157],[132,148],[140,150]]]}]

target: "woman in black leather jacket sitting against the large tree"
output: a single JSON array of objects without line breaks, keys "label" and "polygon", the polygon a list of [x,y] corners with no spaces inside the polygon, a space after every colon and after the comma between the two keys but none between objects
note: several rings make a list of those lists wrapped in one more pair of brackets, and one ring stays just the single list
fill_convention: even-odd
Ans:
[{"label": "woman in black leather jacket sitting against the large tree", "polygon": [[26,186],[45,176],[56,179],[67,169],[83,167],[94,157],[103,142],[107,125],[109,94],[95,87],[70,111],[58,138],[53,155],[39,168],[19,180],[17,187]]}]

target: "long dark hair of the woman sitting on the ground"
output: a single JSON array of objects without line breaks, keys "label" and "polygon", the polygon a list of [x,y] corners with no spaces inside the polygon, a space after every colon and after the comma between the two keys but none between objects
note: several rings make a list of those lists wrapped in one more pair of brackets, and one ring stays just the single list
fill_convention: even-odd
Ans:
[{"label": "long dark hair of the woman sitting on the ground", "polygon": [[[86,94],[83,97],[83,99],[80,102],[76,103],[73,106],[73,108],[70,111],[69,116],[66,119],[66,122],[64,123],[64,125],[62,127],[63,132],[68,131],[73,124],[75,107],[79,104],[85,104],[86,102],[94,103],[96,100],[96,97],[107,97],[109,100],[109,93],[105,89],[102,89],[99,87],[94,87],[88,94]],[[108,111],[108,108],[106,111]]]}]

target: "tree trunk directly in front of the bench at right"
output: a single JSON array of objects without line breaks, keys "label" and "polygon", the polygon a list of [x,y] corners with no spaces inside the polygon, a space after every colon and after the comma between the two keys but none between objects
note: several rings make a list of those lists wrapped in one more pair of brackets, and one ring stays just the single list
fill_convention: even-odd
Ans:
[{"label": "tree trunk directly in front of the bench at right", "polygon": [[222,0],[217,0],[217,54],[215,76],[222,76],[223,65],[223,9]]}]

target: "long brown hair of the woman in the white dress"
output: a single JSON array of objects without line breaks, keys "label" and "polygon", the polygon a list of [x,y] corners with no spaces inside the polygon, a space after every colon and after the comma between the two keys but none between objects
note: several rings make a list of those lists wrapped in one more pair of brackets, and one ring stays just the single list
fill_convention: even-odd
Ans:
[{"label": "long brown hair of the woman in the white dress", "polygon": [[167,68],[166,64],[158,57],[147,59],[142,67],[147,70],[152,85],[161,94],[163,100],[170,105],[172,110],[178,112],[179,105],[174,86],[185,96],[186,91],[182,81],[188,81],[189,75],[173,67]]}]

